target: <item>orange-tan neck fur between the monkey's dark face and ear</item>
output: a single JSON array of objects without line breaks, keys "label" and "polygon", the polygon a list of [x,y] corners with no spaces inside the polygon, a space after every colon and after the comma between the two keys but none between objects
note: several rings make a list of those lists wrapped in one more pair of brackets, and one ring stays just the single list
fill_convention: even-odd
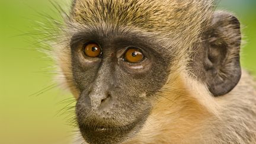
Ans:
[{"label": "orange-tan neck fur between the monkey's dark face and ear", "polygon": [[[164,86],[166,90],[160,92],[161,97],[153,104],[155,107],[145,126],[128,143],[181,143],[196,133],[197,127],[209,117],[217,115],[215,103],[206,105],[213,98],[203,85],[192,79],[189,81],[192,83],[187,84],[187,76],[175,79],[174,83],[167,82]],[[202,94],[206,98],[201,97]]]}]

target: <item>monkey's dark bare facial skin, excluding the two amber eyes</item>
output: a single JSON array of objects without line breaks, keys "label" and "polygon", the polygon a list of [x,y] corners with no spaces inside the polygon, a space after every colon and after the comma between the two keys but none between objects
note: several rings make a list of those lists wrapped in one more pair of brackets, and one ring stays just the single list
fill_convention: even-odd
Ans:
[{"label": "monkey's dark bare facial skin, excluding the two amber eyes", "polygon": [[[97,43],[99,57],[84,54]],[[143,60],[127,62],[129,49]],[[154,39],[139,33],[90,28],[71,40],[73,81],[81,92],[76,115],[88,143],[120,143],[139,132],[149,116],[151,100],[167,81],[171,56]]]}]

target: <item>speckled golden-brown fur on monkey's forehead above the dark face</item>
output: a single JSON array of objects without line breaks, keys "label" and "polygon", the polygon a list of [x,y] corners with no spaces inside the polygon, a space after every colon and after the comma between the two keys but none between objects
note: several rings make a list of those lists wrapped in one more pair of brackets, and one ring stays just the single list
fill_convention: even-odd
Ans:
[{"label": "speckled golden-brown fur on monkey's forehead above the dark face", "polygon": [[212,0],[76,0],[72,21],[85,25],[125,25],[191,38],[207,25],[212,7]]}]

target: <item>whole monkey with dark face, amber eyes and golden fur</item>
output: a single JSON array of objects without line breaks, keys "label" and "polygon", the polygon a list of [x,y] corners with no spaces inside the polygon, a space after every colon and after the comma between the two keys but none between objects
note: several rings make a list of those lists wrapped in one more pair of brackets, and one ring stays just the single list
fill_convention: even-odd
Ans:
[{"label": "whole monkey with dark face, amber eyes and golden fur", "polygon": [[52,55],[83,143],[256,143],[241,24],[216,5],[72,1]]}]

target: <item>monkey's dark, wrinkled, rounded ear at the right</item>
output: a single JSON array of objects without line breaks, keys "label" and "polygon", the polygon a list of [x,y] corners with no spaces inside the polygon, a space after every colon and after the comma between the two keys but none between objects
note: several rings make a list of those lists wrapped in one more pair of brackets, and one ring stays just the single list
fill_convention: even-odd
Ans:
[{"label": "monkey's dark, wrinkled, rounded ear at the right", "polygon": [[239,20],[228,12],[216,11],[206,36],[204,43],[206,84],[213,95],[225,95],[241,78]]}]

